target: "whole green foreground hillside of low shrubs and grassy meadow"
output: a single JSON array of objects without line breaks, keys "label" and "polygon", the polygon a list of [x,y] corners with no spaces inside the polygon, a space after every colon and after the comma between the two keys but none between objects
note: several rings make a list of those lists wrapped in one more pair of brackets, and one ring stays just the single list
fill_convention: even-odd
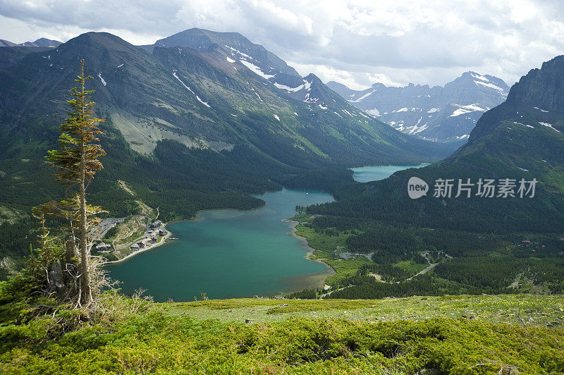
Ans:
[{"label": "whole green foreground hillside of low shrubs and grassy meadow", "polygon": [[[0,371],[5,374],[564,371],[562,296],[362,301],[247,299],[160,305],[118,296],[113,299],[104,302],[112,308],[102,318],[51,340],[42,337],[46,328],[55,330],[59,316],[41,319],[43,324],[0,326]],[[226,314],[230,309],[232,312]],[[515,320],[517,313],[524,324]],[[243,324],[244,317],[260,322]],[[548,328],[547,324],[556,327]]]}]

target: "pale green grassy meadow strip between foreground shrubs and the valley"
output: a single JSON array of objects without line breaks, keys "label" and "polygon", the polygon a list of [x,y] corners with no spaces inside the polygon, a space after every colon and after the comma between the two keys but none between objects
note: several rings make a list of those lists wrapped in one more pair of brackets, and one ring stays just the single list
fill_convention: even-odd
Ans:
[{"label": "pale green grassy meadow strip between foreground shrubs and the valley", "polygon": [[493,323],[562,326],[563,295],[458,295],[384,300],[276,300],[243,298],[166,304],[170,314],[194,319],[255,322],[288,318],[338,318],[361,321],[468,318]]}]

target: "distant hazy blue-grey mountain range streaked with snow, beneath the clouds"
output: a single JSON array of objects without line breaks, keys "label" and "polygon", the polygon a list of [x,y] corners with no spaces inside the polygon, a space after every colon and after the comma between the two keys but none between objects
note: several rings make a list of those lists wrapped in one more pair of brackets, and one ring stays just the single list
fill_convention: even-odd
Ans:
[{"label": "distant hazy blue-grey mountain range streaked with snow, beneath the clouds", "polygon": [[440,142],[467,140],[480,116],[505,101],[509,92],[501,78],[473,71],[444,87],[375,83],[357,91],[334,81],[327,86],[402,133]]}]

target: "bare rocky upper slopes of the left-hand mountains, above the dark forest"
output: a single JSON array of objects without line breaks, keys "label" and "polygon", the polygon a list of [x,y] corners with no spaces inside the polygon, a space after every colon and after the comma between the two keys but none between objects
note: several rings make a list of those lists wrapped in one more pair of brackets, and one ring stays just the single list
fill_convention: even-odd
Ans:
[{"label": "bare rocky upper slopes of the left-hand mountains, above the dark forest", "polygon": [[[191,29],[145,49],[152,54],[114,35],[87,33],[26,55],[1,75],[8,131],[23,131],[21,112],[61,118],[75,61],[85,57],[99,111],[141,154],[168,139],[216,150],[245,144],[265,156],[277,149],[275,158],[290,164],[298,154],[306,164],[415,162],[441,155],[439,147],[390,130],[319,78],[300,77],[239,34]],[[21,100],[29,90],[33,106]]]}]

